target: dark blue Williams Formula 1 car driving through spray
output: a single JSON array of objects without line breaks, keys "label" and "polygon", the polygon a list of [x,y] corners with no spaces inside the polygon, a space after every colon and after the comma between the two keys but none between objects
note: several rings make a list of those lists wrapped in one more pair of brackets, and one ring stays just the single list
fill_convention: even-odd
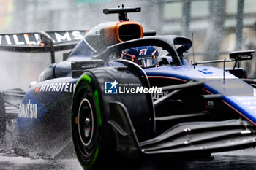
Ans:
[{"label": "dark blue Williams Formula 1 car driving through spray", "polygon": [[[28,91],[1,91],[2,139],[10,119],[17,119],[17,140],[30,149],[61,148],[72,136],[83,169],[255,147],[256,82],[236,67],[253,50],[190,65],[184,58],[190,39],[155,36],[129,21],[127,12],[140,7],[103,12],[118,13],[119,22],[1,35],[0,50],[50,52],[53,62]],[[67,49],[64,61],[54,63],[54,52]],[[217,62],[224,68],[199,66]],[[235,64],[225,68],[226,62]]]}]

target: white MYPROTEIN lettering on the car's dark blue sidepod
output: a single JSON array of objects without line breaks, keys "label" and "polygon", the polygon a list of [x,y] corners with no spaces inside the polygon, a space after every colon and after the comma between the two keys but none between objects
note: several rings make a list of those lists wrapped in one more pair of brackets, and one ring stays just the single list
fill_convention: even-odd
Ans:
[{"label": "white MYPROTEIN lettering on the car's dark blue sidepod", "polygon": [[64,92],[73,93],[75,90],[75,83],[72,82],[53,82],[38,85],[35,93],[39,92]]}]

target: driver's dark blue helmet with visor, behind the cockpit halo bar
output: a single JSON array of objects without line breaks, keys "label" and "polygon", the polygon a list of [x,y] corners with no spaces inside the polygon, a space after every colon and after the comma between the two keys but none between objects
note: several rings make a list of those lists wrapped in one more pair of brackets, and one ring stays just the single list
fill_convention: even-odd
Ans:
[{"label": "driver's dark blue helmet with visor, behind the cockpit halo bar", "polygon": [[158,51],[153,46],[132,47],[121,53],[121,58],[137,63],[143,68],[157,66]]}]

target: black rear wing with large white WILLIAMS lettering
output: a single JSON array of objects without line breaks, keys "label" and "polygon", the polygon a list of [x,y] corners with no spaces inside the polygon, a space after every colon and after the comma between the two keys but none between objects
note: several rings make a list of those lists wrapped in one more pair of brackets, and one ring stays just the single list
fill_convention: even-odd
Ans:
[{"label": "black rear wing with large white WILLIAMS lettering", "polygon": [[56,51],[74,48],[87,32],[87,30],[72,30],[0,34],[0,50],[24,53],[49,52],[51,62],[55,63]]}]

